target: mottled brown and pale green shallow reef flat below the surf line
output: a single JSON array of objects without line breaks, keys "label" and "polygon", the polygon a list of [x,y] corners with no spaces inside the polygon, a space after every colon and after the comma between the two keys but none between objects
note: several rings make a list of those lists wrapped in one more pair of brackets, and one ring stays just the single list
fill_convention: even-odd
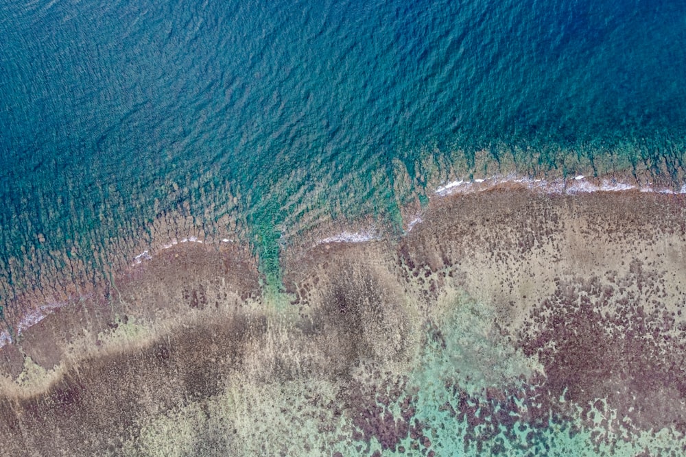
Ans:
[{"label": "mottled brown and pale green shallow reef flat below the surf line", "polygon": [[185,243],[63,306],[0,349],[0,453],[683,455],[686,195],[415,210],[291,240],[279,291]]}]

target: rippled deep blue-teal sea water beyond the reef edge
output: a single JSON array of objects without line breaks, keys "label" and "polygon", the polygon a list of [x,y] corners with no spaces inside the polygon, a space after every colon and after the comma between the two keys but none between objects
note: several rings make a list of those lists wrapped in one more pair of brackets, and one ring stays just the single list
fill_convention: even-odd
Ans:
[{"label": "rippled deep blue-teal sea water beyond the reef edge", "polygon": [[233,211],[273,260],[307,211],[386,217],[399,164],[423,193],[423,164],[469,174],[483,148],[523,174],[615,154],[681,176],[683,1],[6,1],[0,36],[12,284],[22,249],[171,210]]}]

